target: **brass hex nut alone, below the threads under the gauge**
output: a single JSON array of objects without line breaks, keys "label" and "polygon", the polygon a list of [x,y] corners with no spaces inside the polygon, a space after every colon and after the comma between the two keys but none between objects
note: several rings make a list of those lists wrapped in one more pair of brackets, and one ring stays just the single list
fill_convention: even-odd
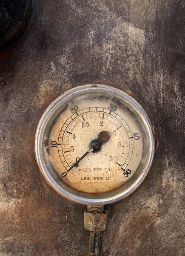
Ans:
[{"label": "brass hex nut alone, below the threads under the gauge", "polygon": [[102,231],[107,226],[107,212],[91,213],[84,212],[84,227],[89,231]]}]

